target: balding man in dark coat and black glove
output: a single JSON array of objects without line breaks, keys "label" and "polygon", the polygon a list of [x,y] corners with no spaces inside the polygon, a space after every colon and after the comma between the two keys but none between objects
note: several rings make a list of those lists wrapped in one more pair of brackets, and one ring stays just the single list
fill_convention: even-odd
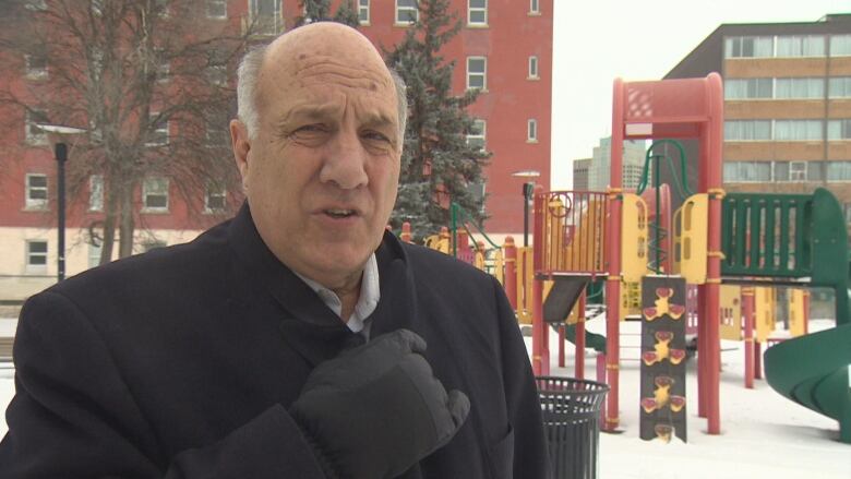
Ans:
[{"label": "balding man in dark coat and black glove", "polygon": [[544,477],[500,285],[384,232],[400,81],[332,23],[239,76],[247,204],[27,301],[0,477]]}]

